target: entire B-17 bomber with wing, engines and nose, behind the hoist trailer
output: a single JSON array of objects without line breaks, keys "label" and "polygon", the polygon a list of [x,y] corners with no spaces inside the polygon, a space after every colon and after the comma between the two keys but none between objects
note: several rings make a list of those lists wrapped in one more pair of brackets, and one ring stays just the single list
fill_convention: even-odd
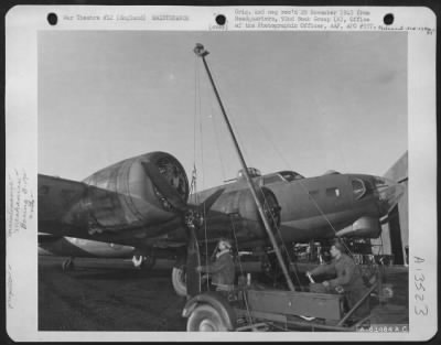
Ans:
[{"label": "entire B-17 bomber with wing, engines and nose, behind the hoist trailer", "polygon": [[[367,174],[247,172],[279,245],[377,238],[402,194],[398,183]],[[123,160],[83,182],[39,175],[39,230],[49,234],[40,236],[42,254],[132,257],[137,267],[175,258],[173,287],[184,295],[189,228],[211,249],[219,238],[234,237],[237,250],[262,260],[271,250],[244,170],[234,182],[193,195],[182,164],[166,152]],[[72,266],[69,259],[63,267]]]}]

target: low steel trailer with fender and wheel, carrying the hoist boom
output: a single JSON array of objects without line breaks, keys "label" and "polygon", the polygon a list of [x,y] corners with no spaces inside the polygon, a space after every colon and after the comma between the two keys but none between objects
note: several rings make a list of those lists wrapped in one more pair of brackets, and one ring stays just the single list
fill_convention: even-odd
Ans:
[{"label": "low steel trailer with fender and wheel, carrying the hoist boom", "polygon": [[190,332],[239,331],[355,331],[369,316],[348,322],[354,312],[378,288],[374,284],[347,312],[343,294],[256,290],[205,292],[189,300],[182,312]]}]

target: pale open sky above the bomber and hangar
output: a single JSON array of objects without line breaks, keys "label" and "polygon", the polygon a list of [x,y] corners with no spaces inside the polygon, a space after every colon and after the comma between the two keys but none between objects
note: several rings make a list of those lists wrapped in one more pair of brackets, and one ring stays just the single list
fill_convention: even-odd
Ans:
[{"label": "pale open sky above the bomber and hangar", "polygon": [[[379,32],[46,31],[39,34],[39,172],[83,180],[150,151],[198,187],[249,166],[383,175],[407,150],[407,35]],[[196,152],[194,150],[196,148]]]}]

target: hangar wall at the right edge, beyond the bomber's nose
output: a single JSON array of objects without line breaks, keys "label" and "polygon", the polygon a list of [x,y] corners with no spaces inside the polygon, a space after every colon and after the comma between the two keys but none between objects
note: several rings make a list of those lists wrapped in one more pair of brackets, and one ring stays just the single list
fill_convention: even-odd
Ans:
[{"label": "hangar wall at the right edge, beyond the bomber's nose", "polygon": [[398,161],[384,174],[405,187],[398,205],[389,215],[389,223],[383,225],[381,236],[373,240],[373,245],[383,244],[383,254],[392,255],[395,265],[408,263],[409,248],[409,213],[408,213],[408,152],[406,151]]}]

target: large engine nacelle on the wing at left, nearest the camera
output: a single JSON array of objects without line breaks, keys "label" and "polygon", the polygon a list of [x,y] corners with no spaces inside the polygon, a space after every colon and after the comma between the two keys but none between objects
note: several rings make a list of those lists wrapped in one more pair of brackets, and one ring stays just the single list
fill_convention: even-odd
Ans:
[{"label": "large engine nacelle on the wing at left, nearest the camera", "polygon": [[87,214],[89,233],[137,228],[176,217],[173,206],[154,186],[142,162],[157,165],[181,198],[187,201],[189,180],[173,155],[150,152],[127,159],[84,180],[89,187],[80,208]]}]

